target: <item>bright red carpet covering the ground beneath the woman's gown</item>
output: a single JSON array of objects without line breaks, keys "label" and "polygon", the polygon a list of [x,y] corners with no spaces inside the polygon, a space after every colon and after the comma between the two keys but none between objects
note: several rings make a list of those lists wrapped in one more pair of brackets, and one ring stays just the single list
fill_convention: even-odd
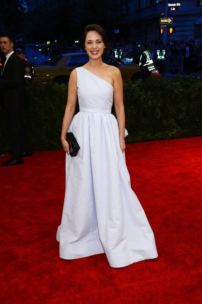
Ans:
[{"label": "bright red carpet covering the ground beneath the woman's gown", "polygon": [[105,254],[59,258],[64,162],[63,150],[38,151],[0,167],[1,303],[201,303],[202,137],[127,144],[159,257],[125,268],[111,268]]}]

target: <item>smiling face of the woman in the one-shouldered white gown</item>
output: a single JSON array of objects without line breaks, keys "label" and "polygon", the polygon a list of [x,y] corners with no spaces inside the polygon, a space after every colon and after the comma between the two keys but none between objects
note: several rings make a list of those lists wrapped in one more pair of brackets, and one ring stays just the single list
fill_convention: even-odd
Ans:
[{"label": "smiling face of the woman in the one-shouldered white gown", "polygon": [[89,31],[86,35],[85,49],[88,56],[92,59],[98,59],[104,52],[104,42],[102,36],[96,31]]}]

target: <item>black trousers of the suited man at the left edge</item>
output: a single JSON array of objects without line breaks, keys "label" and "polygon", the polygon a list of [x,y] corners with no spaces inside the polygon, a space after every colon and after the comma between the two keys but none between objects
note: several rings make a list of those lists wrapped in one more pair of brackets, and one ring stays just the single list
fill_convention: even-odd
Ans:
[{"label": "black trousers of the suited man at the left edge", "polygon": [[31,146],[28,140],[25,124],[22,118],[22,108],[7,108],[9,140],[12,159],[22,159],[23,152],[30,152]]}]

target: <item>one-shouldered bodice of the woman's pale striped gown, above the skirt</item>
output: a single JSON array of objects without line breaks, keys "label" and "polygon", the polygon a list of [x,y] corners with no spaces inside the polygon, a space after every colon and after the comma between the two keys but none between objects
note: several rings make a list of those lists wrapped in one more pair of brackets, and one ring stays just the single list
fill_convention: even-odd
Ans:
[{"label": "one-shouldered bodice of the woman's pale striped gown, above the skirt", "polygon": [[111,113],[114,92],[112,85],[84,67],[77,67],[76,71],[80,111]]}]

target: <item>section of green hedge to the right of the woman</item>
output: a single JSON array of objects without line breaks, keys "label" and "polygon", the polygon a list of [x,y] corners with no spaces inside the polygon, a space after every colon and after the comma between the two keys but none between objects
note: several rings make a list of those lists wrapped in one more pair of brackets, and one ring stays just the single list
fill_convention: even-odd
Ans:
[{"label": "section of green hedge to the right of the woman", "polygon": [[202,79],[124,83],[130,142],[202,135]]}]

